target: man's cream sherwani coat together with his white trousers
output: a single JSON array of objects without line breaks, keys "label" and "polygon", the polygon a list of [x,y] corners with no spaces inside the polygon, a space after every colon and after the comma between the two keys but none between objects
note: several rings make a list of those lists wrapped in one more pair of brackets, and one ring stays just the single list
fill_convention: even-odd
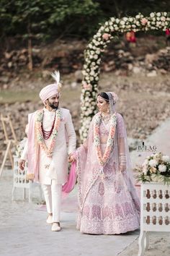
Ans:
[{"label": "man's cream sherwani coat together with his white trousers", "polygon": [[[60,109],[61,124],[58,128],[53,156],[48,158],[45,151],[40,148],[38,164],[38,180],[42,184],[47,211],[53,214],[53,222],[60,222],[61,189],[62,184],[65,184],[68,179],[68,154],[76,149],[76,133],[73,129],[70,111],[66,108]],[[42,126],[45,131],[50,131],[54,118],[55,110],[48,111],[44,108]],[[47,146],[50,145],[50,140],[50,138],[45,140]],[[27,160],[28,150],[26,143],[21,159]]]}]

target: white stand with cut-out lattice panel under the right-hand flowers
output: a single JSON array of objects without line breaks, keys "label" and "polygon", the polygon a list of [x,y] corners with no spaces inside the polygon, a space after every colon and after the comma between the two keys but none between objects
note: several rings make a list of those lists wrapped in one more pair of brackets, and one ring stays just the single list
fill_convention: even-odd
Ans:
[{"label": "white stand with cut-out lattice panel under the right-hand flowers", "polygon": [[[138,256],[149,246],[149,234],[170,233],[170,186],[158,182],[141,184],[140,236]],[[166,234],[166,233],[164,233]]]}]

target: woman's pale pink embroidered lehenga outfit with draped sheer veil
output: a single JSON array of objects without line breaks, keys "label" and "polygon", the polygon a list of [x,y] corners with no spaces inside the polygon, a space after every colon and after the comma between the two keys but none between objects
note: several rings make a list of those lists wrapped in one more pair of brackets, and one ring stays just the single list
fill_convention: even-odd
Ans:
[{"label": "woman's pale pink embroidered lehenga outfit with draped sheer veil", "polygon": [[[103,168],[94,145],[94,118],[89,136],[76,150],[79,216],[77,229],[86,234],[120,234],[139,228],[140,202],[130,176],[130,157],[125,125],[120,114],[109,159]],[[101,120],[99,138],[102,153],[106,148],[110,121]],[[125,171],[120,171],[121,155],[125,156]]]}]

